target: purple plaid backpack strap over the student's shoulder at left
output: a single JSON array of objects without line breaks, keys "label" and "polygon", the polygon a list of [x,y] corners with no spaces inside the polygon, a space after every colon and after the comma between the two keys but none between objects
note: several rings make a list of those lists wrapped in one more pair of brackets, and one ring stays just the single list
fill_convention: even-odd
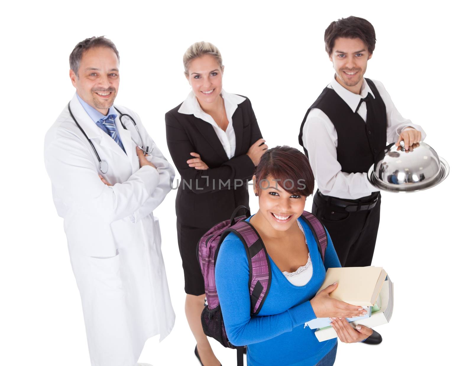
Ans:
[{"label": "purple plaid backpack strap over the student's shoulder at left", "polygon": [[248,221],[240,221],[227,231],[235,233],[245,244],[250,269],[248,287],[250,289],[251,314],[258,314],[271,286],[268,253],[260,235]]}]

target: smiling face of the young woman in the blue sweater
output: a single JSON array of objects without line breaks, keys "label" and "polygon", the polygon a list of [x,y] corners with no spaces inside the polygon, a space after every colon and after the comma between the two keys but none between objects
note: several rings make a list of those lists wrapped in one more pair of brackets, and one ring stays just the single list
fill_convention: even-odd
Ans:
[{"label": "smiling face of the young woman in the blue sweater", "polygon": [[[254,176],[253,181],[255,179]],[[271,175],[266,177],[266,180],[262,180],[260,184],[261,189],[258,193],[260,209],[258,214],[261,214],[263,226],[267,227],[268,230],[288,230],[296,224],[296,220],[302,215],[306,197],[285,191],[281,185],[282,182],[275,182]],[[287,183],[288,186],[290,184]],[[255,184],[254,192],[257,192]]]}]

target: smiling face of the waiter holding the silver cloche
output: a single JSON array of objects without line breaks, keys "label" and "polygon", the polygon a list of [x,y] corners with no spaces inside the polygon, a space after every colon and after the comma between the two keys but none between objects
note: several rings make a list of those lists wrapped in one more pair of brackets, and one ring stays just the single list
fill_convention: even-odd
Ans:
[{"label": "smiling face of the waiter holding the silver cloche", "polygon": [[337,38],[333,44],[330,61],[333,62],[338,83],[352,93],[359,94],[371,56],[361,39]]}]

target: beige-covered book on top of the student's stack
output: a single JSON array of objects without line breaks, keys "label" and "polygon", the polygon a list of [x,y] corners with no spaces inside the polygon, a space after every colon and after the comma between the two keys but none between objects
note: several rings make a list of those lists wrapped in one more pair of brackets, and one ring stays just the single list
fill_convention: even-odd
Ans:
[{"label": "beige-covered book on top of the student's stack", "polygon": [[382,267],[329,268],[317,293],[337,282],[330,297],[351,305],[374,306],[385,278]]}]

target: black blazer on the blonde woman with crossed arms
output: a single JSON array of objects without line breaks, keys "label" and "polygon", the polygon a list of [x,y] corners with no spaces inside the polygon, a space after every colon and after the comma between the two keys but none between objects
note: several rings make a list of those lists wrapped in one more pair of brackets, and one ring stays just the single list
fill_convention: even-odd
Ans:
[{"label": "black blazer on the blonde woman with crossed arms", "polygon": [[[245,182],[253,176],[254,165],[246,152],[262,136],[246,98],[232,116],[236,147],[235,156],[228,160],[212,125],[193,114],[177,112],[181,104],[167,112],[165,118],[167,147],[181,175],[176,216],[185,225],[210,228],[229,219],[237,206],[248,207]],[[186,161],[193,158],[191,152],[200,154],[209,169],[189,167]],[[243,186],[238,186],[238,180],[244,182]]]}]

